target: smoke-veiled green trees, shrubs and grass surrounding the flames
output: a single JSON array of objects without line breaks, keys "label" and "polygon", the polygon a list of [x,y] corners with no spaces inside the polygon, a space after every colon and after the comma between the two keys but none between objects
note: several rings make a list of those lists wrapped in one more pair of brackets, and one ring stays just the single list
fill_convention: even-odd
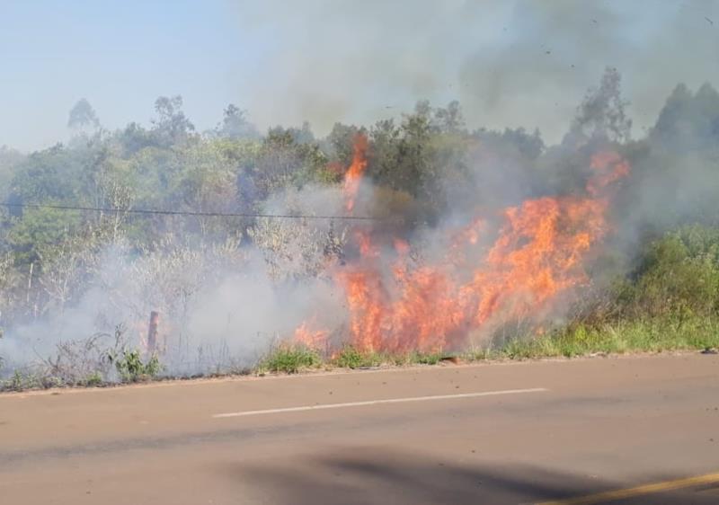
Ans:
[{"label": "smoke-veiled green trees, shrubs and grass surrounding the flames", "polygon": [[[0,210],[0,388],[157,377],[164,369],[160,352],[92,335],[144,322],[159,310],[174,324],[173,349],[194,352],[182,340],[189,338],[191,309],[208,283],[220,285],[226,272],[250,261],[251,246],[276,286],[321,279],[328,257],[344,261],[356,253],[347,246],[346,227],[253,214],[317,213],[302,191],[341,187],[358,132],[368,137],[366,177],[375,185],[368,212],[393,217],[380,231],[400,237],[421,236],[413,234],[438,226],[457,206],[494,210],[521,199],[581,194],[590,155],[599,148],[616,150],[632,165],[612,202],[606,247],[590,259],[589,287],[572,310],[542,334],[513,332],[462,350],[462,359],[719,347],[719,93],[710,84],[696,92],[679,84],[653,128],[632,139],[620,76],[608,70],[557,146],[546,146],[538,130],[467,128],[458,102],[419,102],[401,118],[368,127],[337,123],[326,137],[315,137],[308,124],[261,133],[233,104],[217,128],[198,132],[179,96],[157,99],[148,128],[133,122],[109,131],[82,100],[70,111],[68,128],[67,145],[30,154],[0,147],[0,200],[10,204]],[[138,209],[196,214],[132,212]],[[18,364],[11,353],[17,350],[5,342],[25,342],[30,352],[29,340],[8,335],[58,315],[77,324],[63,328],[52,356],[43,354],[31,369],[24,356]],[[201,351],[228,363],[223,369],[235,366],[221,346]],[[282,345],[258,369],[297,373],[442,358],[351,347],[327,358]]]}]

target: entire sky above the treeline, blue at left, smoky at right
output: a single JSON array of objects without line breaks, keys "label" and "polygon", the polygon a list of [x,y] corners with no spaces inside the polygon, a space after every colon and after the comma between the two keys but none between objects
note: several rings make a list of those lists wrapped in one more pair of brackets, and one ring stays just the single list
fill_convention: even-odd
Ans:
[{"label": "entire sky above the treeline, blue at left, smoky at right", "polygon": [[457,98],[470,126],[554,139],[605,66],[637,134],[679,81],[719,84],[717,48],[704,0],[2,0],[0,146],[65,140],[81,97],[120,128],[174,94],[199,129],[229,102],[322,134]]}]

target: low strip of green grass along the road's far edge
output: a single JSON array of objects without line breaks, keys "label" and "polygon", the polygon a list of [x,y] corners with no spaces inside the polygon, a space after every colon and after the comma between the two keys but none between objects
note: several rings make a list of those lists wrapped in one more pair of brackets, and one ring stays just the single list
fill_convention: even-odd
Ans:
[{"label": "low strip of green grass along the road's far edge", "polygon": [[[346,346],[332,356],[325,357],[321,352],[304,345],[284,343],[270,350],[255,368],[243,369],[242,375],[297,374],[333,368],[432,366],[447,360],[471,363],[706,349],[719,349],[719,318],[662,317],[601,324],[571,323],[544,335],[521,335],[500,345],[487,345],[457,353],[363,352]],[[172,378],[161,376],[163,366],[157,357],[143,360],[135,350],[114,356],[113,364],[122,383]],[[217,375],[223,374],[215,374],[215,377]],[[101,371],[94,371],[81,379],[68,382],[67,379],[41,370],[16,370],[12,376],[0,380],[0,392],[68,386],[101,387],[113,384],[117,383],[108,380]]]}]

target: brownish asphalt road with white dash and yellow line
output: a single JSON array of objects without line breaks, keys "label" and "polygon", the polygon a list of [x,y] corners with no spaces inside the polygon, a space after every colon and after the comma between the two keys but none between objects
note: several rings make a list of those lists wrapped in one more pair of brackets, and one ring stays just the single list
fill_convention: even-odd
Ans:
[{"label": "brownish asphalt road with white dash and yellow line", "polygon": [[692,354],[2,394],[0,502],[719,503],[718,379]]}]

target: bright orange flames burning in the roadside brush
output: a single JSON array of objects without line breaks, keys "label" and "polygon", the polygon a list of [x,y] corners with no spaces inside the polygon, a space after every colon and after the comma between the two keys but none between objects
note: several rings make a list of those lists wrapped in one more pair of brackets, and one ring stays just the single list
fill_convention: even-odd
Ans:
[{"label": "bright orange flames burning in the roadside brush", "polygon": [[[366,149],[367,139],[357,137],[344,184],[349,210]],[[608,232],[610,189],[629,173],[615,152],[594,155],[590,168],[587,196],[528,199],[498,217],[475,217],[448,233],[440,244],[448,253],[433,263],[413,264],[410,244],[396,238],[388,261],[390,247],[380,254],[375,237],[356,230],[359,258],[333,267],[346,297],[351,345],[363,351],[457,349],[502,322],[534,318],[538,325],[560,294],[589,281],[583,262]],[[320,349],[328,334],[303,324],[296,338]]]}]

